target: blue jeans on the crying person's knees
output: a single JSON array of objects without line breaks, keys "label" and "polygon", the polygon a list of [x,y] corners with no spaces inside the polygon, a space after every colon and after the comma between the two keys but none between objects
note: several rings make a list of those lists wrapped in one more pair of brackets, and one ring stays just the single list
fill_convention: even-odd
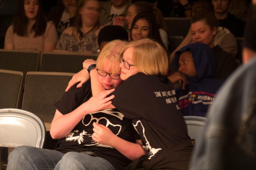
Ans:
[{"label": "blue jeans on the crying person's knees", "polygon": [[18,146],[8,158],[7,170],[46,170],[46,169],[106,169],[115,168],[107,160],[78,152],[66,154],[55,150]]}]

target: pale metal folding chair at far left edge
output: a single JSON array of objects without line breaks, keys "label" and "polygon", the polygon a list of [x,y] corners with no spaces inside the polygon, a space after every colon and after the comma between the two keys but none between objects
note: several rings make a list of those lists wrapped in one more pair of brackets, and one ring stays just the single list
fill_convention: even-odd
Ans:
[{"label": "pale metal folding chair at far left edge", "polygon": [[21,109],[0,109],[0,146],[43,148],[45,126],[35,114]]}]

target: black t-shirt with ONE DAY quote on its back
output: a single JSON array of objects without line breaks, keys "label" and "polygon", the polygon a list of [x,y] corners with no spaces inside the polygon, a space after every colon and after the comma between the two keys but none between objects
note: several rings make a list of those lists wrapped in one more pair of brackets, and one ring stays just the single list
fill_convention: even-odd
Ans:
[{"label": "black t-shirt with ONE DAY quote on its back", "polygon": [[173,84],[166,76],[138,73],[127,78],[113,94],[112,104],[133,120],[148,159],[190,139]]}]

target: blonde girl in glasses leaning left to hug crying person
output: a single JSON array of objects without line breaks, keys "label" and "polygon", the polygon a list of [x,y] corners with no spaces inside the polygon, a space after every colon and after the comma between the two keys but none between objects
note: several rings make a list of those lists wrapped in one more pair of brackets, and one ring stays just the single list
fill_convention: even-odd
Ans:
[{"label": "blonde girl in glasses leaning left to hug crying person", "polygon": [[[120,54],[120,77],[125,81],[112,93],[115,97],[107,108],[117,108],[132,119],[146,153],[126,169],[187,169],[194,140],[188,136],[174,86],[166,76],[164,48],[153,40],[141,39],[129,42]],[[83,66],[90,68],[92,63],[86,60]],[[104,90],[96,75],[96,69],[91,69],[93,95]],[[94,128],[97,132],[99,127]],[[95,137],[98,143],[112,140],[104,134]]]}]

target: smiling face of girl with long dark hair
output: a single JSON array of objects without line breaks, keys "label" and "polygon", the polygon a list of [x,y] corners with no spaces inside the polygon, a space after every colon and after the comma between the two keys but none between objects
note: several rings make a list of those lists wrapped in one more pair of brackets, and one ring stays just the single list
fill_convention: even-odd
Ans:
[{"label": "smiling face of girl with long dark hair", "polygon": [[132,40],[140,40],[149,37],[149,23],[145,19],[139,19],[131,30]]}]

